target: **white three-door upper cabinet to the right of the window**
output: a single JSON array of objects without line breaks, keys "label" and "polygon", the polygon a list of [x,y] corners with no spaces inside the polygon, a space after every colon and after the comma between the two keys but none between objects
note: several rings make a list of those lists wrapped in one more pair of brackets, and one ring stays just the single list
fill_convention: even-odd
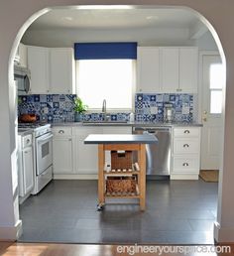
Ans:
[{"label": "white three-door upper cabinet to the right of the window", "polygon": [[195,47],[139,47],[137,92],[196,93]]}]

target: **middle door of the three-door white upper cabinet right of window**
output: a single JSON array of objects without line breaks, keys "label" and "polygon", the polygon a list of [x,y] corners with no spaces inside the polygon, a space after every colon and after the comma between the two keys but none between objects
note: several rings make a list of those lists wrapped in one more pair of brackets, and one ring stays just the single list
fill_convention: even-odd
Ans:
[{"label": "middle door of the three-door white upper cabinet right of window", "polygon": [[161,82],[164,92],[176,92],[178,88],[178,48],[161,49]]}]

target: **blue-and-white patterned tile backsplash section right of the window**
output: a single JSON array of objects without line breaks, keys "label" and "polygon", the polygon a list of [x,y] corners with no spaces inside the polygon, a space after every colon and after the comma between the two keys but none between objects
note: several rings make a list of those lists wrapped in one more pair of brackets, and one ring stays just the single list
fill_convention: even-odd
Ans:
[{"label": "blue-and-white patterned tile backsplash section right of the window", "polygon": [[175,110],[175,121],[192,121],[193,94],[184,93],[137,93],[135,96],[136,121],[164,121],[164,107],[168,103],[171,103]]}]

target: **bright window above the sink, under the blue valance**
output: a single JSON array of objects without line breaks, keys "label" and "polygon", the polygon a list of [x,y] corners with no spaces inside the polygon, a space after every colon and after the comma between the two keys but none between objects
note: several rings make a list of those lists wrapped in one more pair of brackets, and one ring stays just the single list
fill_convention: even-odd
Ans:
[{"label": "bright window above the sink, under the blue valance", "polygon": [[134,60],[80,60],[76,62],[78,96],[89,109],[132,109],[135,93]]}]

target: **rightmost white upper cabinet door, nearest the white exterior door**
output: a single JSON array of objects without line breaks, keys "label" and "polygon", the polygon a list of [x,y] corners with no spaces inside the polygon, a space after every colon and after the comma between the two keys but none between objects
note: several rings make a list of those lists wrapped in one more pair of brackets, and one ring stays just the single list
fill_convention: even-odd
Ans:
[{"label": "rightmost white upper cabinet door, nearest the white exterior door", "polygon": [[197,49],[179,49],[179,88],[182,92],[197,92]]}]

